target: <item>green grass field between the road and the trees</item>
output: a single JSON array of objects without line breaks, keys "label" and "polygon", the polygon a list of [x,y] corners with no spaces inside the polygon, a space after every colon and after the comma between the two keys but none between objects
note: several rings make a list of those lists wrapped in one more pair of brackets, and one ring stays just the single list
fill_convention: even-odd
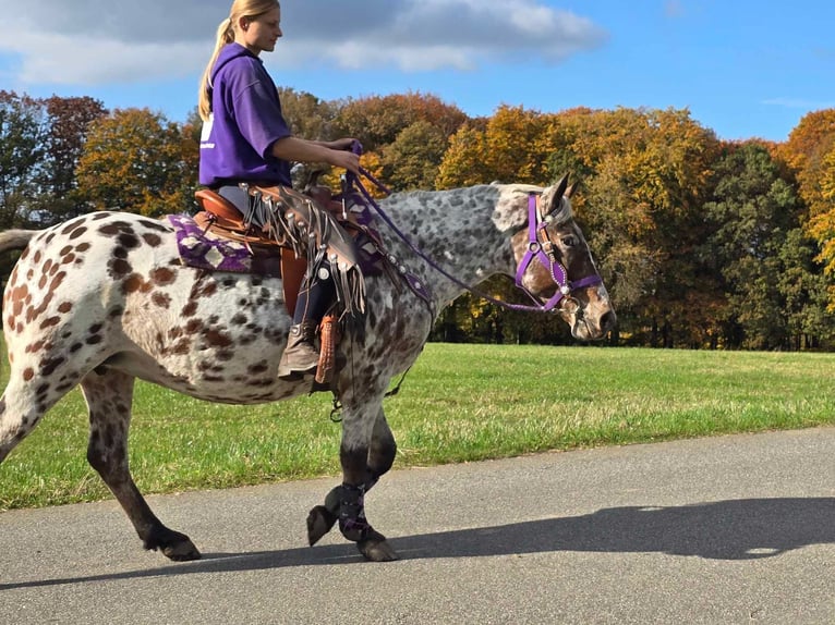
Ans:
[{"label": "green grass field between the road and the trees", "polygon": [[[833,425],[833,371],[835,354],[431,343],[385,407],[407,467]],[[330,407],[326,393],[237,407],[141,382],[134,477],[162,493],[337,475]],[[110,497],[86,436],[76,390],[0,466],[0,510]]]}]

